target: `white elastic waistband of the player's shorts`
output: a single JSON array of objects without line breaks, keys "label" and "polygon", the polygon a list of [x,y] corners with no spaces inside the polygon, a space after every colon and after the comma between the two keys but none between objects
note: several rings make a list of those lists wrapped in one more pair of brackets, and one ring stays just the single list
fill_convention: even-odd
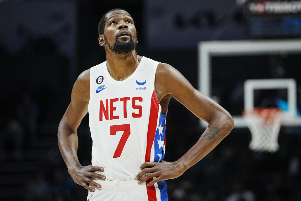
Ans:
[{"label": "white elastic waistband of the player's shorts", "polygon": [[146,188],[145,182],[138,184],[137,180],[130,181],[109,181],[109,180],[94,180],[94,182],[101,185],[101,188],[96,188],[105,191],[133,191],[141,188]]}]

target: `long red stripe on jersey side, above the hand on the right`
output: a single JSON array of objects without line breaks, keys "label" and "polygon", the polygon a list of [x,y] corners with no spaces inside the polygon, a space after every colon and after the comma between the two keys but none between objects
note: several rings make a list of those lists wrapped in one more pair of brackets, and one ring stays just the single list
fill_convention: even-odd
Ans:
[{"label": "long red stripe on jersey side, above the hand on the right", "polygon": [[145,161],[150,162],[150,152],[153,145],[155,134],[157,130],[157,120],[159,112],[159,101],[156,96],[156,91],[153,91],[150,103],[150,118],[148,121],[147,139],[146,139],[146,152]]}]

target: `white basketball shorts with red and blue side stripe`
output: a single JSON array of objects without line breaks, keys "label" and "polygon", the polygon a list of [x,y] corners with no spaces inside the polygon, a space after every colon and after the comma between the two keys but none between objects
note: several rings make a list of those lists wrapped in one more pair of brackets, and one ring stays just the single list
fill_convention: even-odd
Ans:
[{"label": "white basketball shorts with red and blue side stripe", "polygon": [[87,201],[168,201],[165,181],[148,187],[146,182],[138,184],[130,181],[96,181],[101,188],[88,193]]}]

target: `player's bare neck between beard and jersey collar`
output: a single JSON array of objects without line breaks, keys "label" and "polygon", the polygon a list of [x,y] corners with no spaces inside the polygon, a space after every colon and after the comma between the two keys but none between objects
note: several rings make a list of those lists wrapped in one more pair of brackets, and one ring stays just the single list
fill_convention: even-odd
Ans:
[{"label": "player's bare neck between beard and jersey collar", "polygon": [[129,54],[119,55],[106,50],[107,69],[111,77],[117,81],[127,79],[136,70],[141,56],[134,49]]}]

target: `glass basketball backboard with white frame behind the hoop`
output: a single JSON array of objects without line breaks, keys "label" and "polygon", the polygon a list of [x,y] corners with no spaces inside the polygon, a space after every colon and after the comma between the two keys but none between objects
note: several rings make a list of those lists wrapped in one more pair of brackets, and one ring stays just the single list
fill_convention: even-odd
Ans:
[{"label": "glass basketball backboard with white frame behind the hoop", "polygon": [[[265,40],[265,41],[206,41],[200,42],[198,45],[198,57],[199,57],[199,90],[210,97],[219,94],[214,90],[214,83],[218,79],[216,79],[216,75],[214,73],[219,72],[219,78],[225,77],[222,83],[218,85],[230,85],[230,82],[235,82],[237,75],[240,73],[244,73],[244,71],[251,70],[254,71],[256,76],[252,76],[252,73],[245,73],[246,75],[239,79],[241,84],[241,96],[243,97],[244,103],[242,104],[240,110],[238,112],[231,113],[231,109],[229,110],[227,106],[228,104],[224,104],[225,100],[221,100],[221,105],[225,107],[228,111],[230,111],[231,115],[234,118],[235,128],[245,128],[247,127],[245,120],[242,117],[242,111],[246,109],[246,107],[254,106],[254,91],[255,90],[268,90],[268,89],[283,89],[287,90],[287,102],[288,109],[286,118],[283,118],[282,125],[283,126],[301,126],[301,117],[296,116],[296,107],[297,107],[297,91],[296,85],[300,84],[301,77],[298,73],[299,64],[301,61],[301,40]],[[275,56],[276,55],[276,56]],[[280,56],[277,56],[280,55]],[[297,62],[295,62],[295,67],[290,68],[288,64],[287,71],[290,71],[286,75],[284,75],[283,79],[273,79],[274,77],[268,74],[267,72],[273,71],[273,69],[266,70],[266,66],[264,61],[267,60],[265,57],[283,57],[284,61],[292,60],[292,58],[297,58]],[[258,59],[261,62],[254,61],[254,58]],[[220,59],[221,58],[221,59]],[[223,64],[227,65],[227,58],[231,58],[233,60],[236,58],[240,58],[240,63],[237,63],[235,66],[231,64],[231,68],[223,68]],[[222,63],[220,67],[214,67],[217,63],[216,59],[221,60],[219,64]],[[244,61],[246,60],[246,61]],[[224,63],[223,63],[224,62]],[[244,62],[247,62],[246,65]],[[252,62],[256,65],[256,67],[252,67]],[[291,64],[291,63],[290,63]],[[275,64],[276,65],[276,64]],[[277,64],[278,65],[278,64]],[[212,68],[215,68],[214,70]],[[274,67],[273,67],[274,68]],[[232,69],[234,76],[229,76],[229,69]],[[275,66],[275,71],[277,66]],[[290,69],[295,69],[296,72],[291,72]],[[239,72],[240,71],[240,72]],[[260,76],[257,76],[260,75]],[[214,77],[215,76],[215,77]],[[236,76],[236,77],[235,77]],[[258,79],[259,78],[259,79]],[[272,80],[271,80],[272,79]],[[219,79],[220,80],[220,79]],[[252,81],[253,80],[253,81]],[[246,86],[244,87],[244,83]],[[234,85],[233,85],[234,86]],[[222,86],[223,87],[223,86]],[[232,87],[232,86],[231,86]],[[216,88],[216,87],[215,87]],[[232,87],[233,88],[233,87]],[[232,89],[233,90],[233,89]],[[238,90],[239,91],[239,90]],[[239,92],[237,92],[239,93]],[[230,96],[230,94],[227,94]],[[201,121],[203,126],[207,126],[206,122]]]}]

